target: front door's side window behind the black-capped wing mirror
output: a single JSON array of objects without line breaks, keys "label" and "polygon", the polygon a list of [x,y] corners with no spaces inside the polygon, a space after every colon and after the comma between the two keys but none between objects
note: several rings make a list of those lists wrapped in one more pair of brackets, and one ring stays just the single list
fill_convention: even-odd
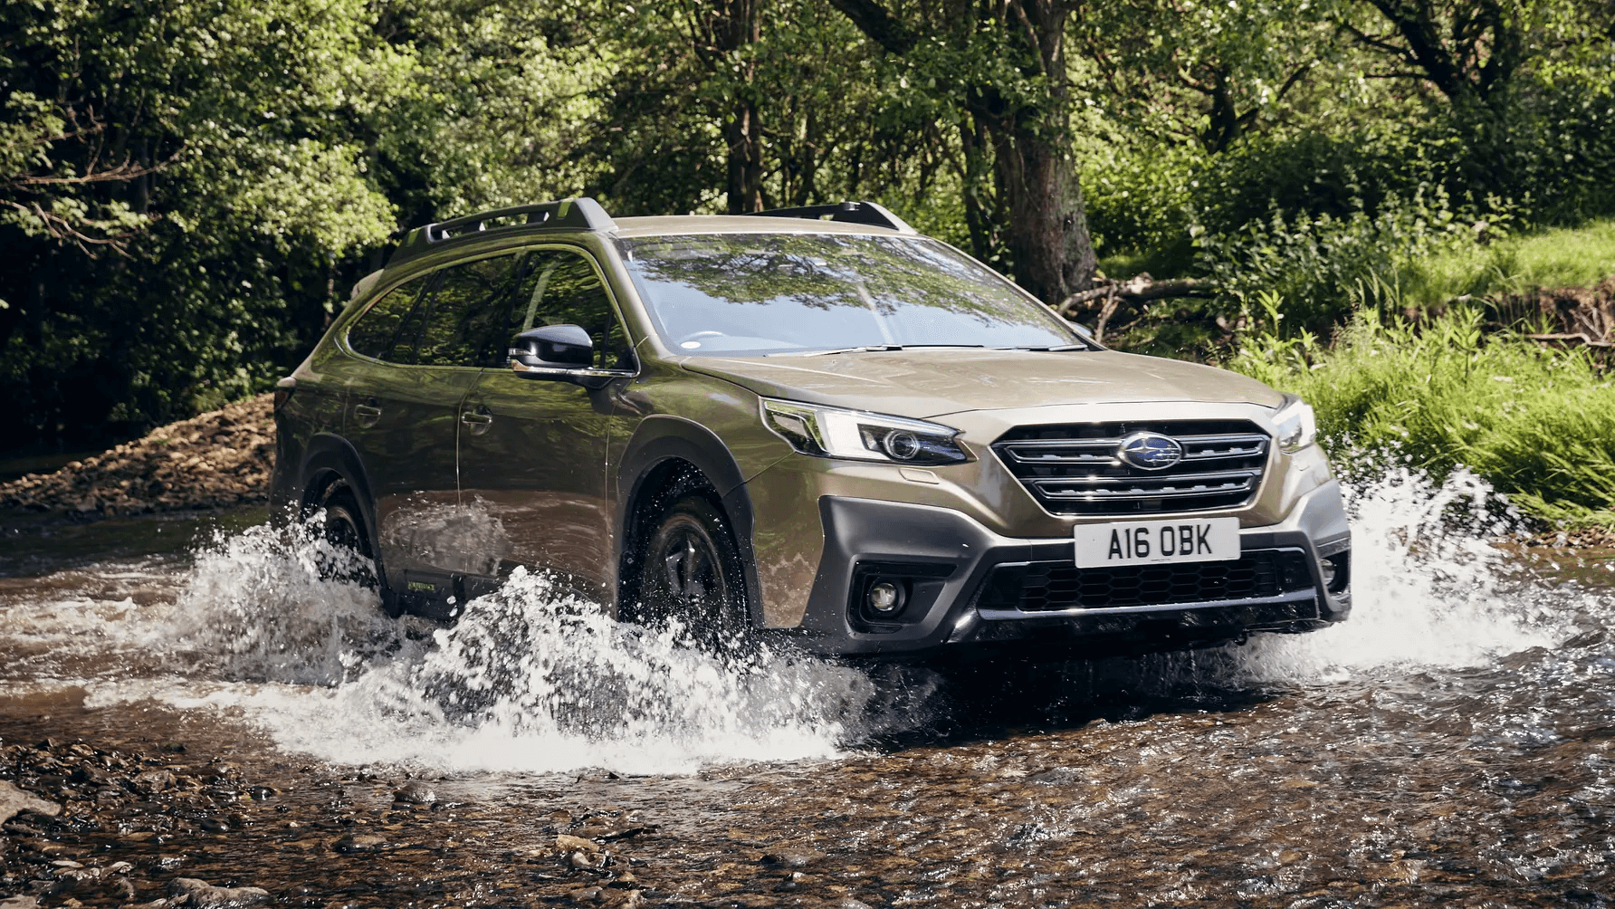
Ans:
[{"label": "front door's side window behind the black-capped wing mirror", "polygon": [[[512,326],[518,334],[539,325],[578,325],[594,339],[594,367],[631,370],[628,336],[594,266],[580,253],[546,249],[528,253],[515,289]],[[501,363],[504,365],[504,363]]]}]

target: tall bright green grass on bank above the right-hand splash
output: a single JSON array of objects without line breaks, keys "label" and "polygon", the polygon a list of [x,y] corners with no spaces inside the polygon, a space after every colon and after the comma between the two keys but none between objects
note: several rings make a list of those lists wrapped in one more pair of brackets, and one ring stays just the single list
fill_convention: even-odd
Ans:
[{"label": "tall bright green grass on bank above the right-hand splash", "polygon": [[1615,376],[1584,352],[1486,336],[1460,307],[1420,329],[1365,312],[1328,350],[1247,337],[1229,365],[1307,399],[1347,473],[1395,450],[1434,476],[1466,465],[1549,523],[1615,526]]}]

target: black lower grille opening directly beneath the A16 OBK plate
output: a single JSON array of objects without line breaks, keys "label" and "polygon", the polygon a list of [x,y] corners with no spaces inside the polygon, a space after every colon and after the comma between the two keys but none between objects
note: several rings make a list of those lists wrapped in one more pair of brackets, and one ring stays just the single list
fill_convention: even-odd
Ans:
[{"label": "black lower grille opening directly beneath the A16 OBK plate", "polygon": [[998,565],[977,607],[1051,612],[1274,597],[1313,586],[1300,549],[1258,549],[1231,562],[1077,568],[1071,562]]}]

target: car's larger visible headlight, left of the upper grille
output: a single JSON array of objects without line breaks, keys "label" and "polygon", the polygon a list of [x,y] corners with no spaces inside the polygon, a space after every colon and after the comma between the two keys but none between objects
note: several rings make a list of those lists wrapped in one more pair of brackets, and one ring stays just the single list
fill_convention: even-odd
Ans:
[{"label": "car's larger visible headlight, left of the upper grille", "polygon": [[762,399],[762,423],[793,449],[814,457],[883,460],[891,463],[964,463],[971,455],[954,441],[951,426],[882,417],[862,410],[816,407]]}]

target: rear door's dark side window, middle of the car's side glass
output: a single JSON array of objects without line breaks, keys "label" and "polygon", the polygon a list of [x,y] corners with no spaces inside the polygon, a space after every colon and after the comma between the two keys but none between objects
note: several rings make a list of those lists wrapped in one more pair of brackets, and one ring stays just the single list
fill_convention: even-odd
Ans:
[{"label": "rear door's dark side window, middle of the car's side glass", "polygon": [[[486,367],[488,337],[509,321],[517,255],[480,258],[441,271],[423,308],[415,362],[428,367]],[[504,365],[504,363],[499,363]]]}]

